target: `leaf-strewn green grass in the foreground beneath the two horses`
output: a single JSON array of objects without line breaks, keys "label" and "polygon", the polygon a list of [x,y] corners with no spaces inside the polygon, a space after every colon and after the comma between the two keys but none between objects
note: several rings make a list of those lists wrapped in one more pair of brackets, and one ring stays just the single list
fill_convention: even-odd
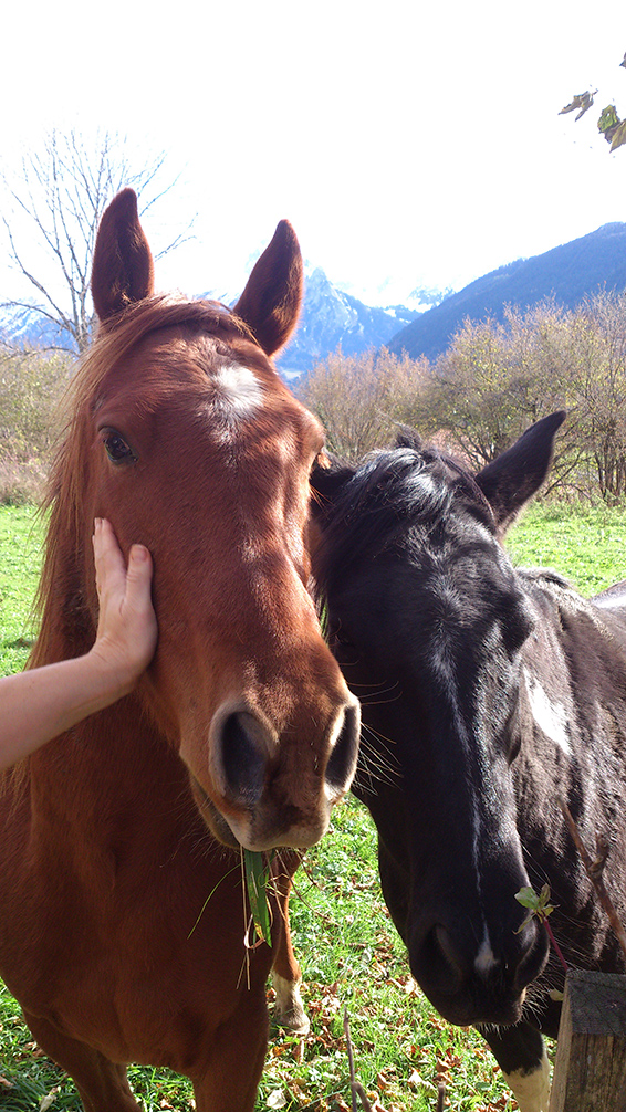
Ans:
[{"label": "leaf-strewn green grass in the foreground beneath the two horses", "polygon": [[[448,1081],[449,1108],[504,1112],[515,1108],[490,1054],[473,1031],[445,1023],[417,992],[403,945],[382,903],[371,822],[356,800],[337,808],[332,828],[307,854],[291,900],[292,935],[311,1019],[306,1039],[272,1029],[258,1112],[347,1112],[350,1108],[344,1009],[350,1017],[356,1070],[376,1112],[427,1112],[437,1078]],[[271,991],[269,992],[271,997]],[[46,1058],[33,1058],[19,1007],[0,989],[2,1112],[36,1112],[54,1093],[52,1112],[80,1112],[71,1083]],[[189,1083],[166,1070],[132,1068],[131,1085],[148,1112],[189,1106]]]}]

